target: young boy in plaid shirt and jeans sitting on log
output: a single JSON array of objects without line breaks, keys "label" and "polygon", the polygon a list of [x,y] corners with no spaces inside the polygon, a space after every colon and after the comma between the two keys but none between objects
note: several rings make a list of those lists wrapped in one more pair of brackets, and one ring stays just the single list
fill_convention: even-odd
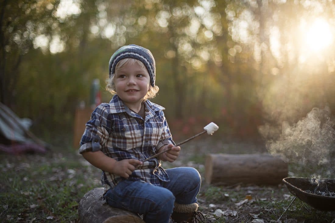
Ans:
[{"label": "young boy in plaid shirt and jeans sitting on log", "polygon": [[161,161],[177,159],[180,147],[172,140],[164,108],[147,100],[159,90],[155,70],[153,55],[141,46],[123,46],[112,55],[107,90],[115,95],[93,111],[79,152],[103,171],[110,206],[143,215],[145,222],[200,222],[198,171],[161,167]]}]

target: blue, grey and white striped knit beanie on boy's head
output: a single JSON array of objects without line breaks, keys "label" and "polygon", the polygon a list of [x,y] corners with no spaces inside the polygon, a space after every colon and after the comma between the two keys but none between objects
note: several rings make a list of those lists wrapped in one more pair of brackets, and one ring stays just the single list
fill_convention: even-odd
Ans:
[{"label": "blue, grey and white striped knit beanie on boy's head", "polygon": [[150,50],[135,44],[122,46],[112,55],[109,61],[109,77],[111,78],[115,74],[115,67],[119,61],[126,58],[139,60],[145,65],[150,76],[150,85],[154,87],[156,75],[155,59]]}]

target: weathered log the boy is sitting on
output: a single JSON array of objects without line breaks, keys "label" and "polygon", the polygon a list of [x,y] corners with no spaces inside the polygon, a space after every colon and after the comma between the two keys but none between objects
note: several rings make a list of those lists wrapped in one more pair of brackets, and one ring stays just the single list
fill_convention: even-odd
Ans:
[{"label": "weathered log the boy is sitting on", "polygon": [[144,223],[137,214],[106,204],[102,198],[103,193],[104,188],[94,188],[80,200],[78,205],[80,223]]}]

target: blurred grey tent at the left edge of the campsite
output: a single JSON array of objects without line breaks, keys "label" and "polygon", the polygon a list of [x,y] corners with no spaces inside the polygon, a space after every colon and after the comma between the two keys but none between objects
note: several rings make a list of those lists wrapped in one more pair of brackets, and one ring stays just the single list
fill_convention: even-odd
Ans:
[{"label": "blurred grey tent at the left edge of the campsite", "polygon": [[0,151],[11,154],[46,152],[46,143],[29,131],[31,120],[19,118],[0,103]]}]

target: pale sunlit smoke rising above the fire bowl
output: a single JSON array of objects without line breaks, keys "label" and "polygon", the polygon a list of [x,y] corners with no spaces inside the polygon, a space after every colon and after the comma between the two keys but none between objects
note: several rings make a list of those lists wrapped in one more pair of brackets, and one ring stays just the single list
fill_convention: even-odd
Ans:
[{"label": "pale sunlit smoke rising above the fire bowl", "polygon": [[335,156],[334,121],[328,106],[313,108],[306,117],[290,125],[283,121],[281,128],[263,125],[259,132],[267,139],[266,147],[271,154],[280,154],[286,161],[304,166],[326,165],[333,171],[331,161]]}]

